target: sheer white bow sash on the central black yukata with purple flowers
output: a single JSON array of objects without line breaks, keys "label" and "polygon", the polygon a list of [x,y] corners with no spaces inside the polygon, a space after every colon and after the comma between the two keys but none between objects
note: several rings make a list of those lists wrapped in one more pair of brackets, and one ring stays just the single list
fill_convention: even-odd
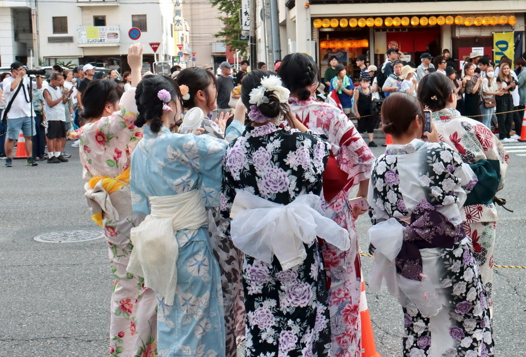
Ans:
[{"label": "sheer white bow sash on the central black yukata with purple flowers", "polygon": [[303,244],[312,244],[316,237],[341,250],[350,248],[349,232],[323,214],[316,195],[301,195],[282,205],[236,190],[230,217],[234,245],[266,263],[275,255],[283,270],[301,264],[307,257]]}]

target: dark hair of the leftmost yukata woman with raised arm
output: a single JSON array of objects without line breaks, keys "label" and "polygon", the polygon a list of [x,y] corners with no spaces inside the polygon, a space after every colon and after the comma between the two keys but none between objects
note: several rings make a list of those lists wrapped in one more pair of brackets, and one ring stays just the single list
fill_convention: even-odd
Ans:
[{"label": "dark hair of the leftmost yukata woman with raised arm", "polygon": [[113,79],[91,81],[82,95],[84,110],[80,111],[80,117],[84,120],[100,118],[106,103],[117,103],[123,93],[123,87]]}]

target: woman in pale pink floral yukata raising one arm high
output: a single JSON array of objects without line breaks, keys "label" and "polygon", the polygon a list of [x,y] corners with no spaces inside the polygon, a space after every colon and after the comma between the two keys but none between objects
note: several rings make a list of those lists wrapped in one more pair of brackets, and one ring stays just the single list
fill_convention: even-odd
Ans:
[{"label": "woman in pale pink floral yukata raising one arm high", "polygon": [[[134,87],[140,81],[142,58],[143,48],[131,46],[128,64]],[[134,96],[135,88],[123,95],[123,89],[113,80],[90,83],[83,95],[81,113],[86,124],[77,131],[83,178],[88,181],[85,196],[92,218],[104,228],[115,277],[109,350],[115,357],[153,356],[157,339],[155,294],[144,286],[141,276],[126,272],[133,248],[130,229],[144,218],[131,211],[129,188],[130,154],[143,137],[134,125]]]}]

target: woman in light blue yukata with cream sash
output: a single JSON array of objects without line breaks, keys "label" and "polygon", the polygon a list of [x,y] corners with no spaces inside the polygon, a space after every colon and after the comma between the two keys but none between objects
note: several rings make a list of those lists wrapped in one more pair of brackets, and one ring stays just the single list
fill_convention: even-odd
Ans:
[{"label": "woman in light blue yukata with cream sash", "polygon": [[[135,99],[144,138],[131,158],[131,201],[146,218],[131,230],[128,271],[144,276],[158,298],[159,356],[224,357],[221,275],[206,208],[219,205],[227,142],[170,132],[182,106],[168,77],[145,76]],[[239,121],[229,127],[237,135],[243,129]]]}]

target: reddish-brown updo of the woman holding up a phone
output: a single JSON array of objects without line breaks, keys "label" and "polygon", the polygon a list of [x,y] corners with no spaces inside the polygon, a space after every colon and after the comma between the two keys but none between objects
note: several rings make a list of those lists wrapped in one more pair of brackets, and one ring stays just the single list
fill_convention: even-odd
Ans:
[{"label": "reddish-brown updo of the woman holding up a phone", "polygon": [[[440,73],[438,75],[446,78]],[[416,116],[423,124],[422,104],[417,98],[407,93],[392,93],[382,103],[382,129],[386,134],[391,134],[393,137],[400,137],[406,133]]]}]

